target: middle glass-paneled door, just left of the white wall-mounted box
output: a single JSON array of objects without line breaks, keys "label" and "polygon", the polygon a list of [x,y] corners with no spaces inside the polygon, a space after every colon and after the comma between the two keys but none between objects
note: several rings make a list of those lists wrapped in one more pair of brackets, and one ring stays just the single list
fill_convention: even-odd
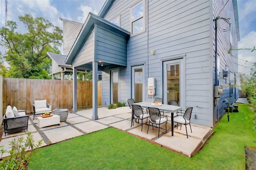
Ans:
[{"label": "middle glass-paneled door, just left of the white wall-mounted box", "polygon": [[144,98],[144,66],[133,66],[132,67],[132,98],[134,101],[142,102]]}]

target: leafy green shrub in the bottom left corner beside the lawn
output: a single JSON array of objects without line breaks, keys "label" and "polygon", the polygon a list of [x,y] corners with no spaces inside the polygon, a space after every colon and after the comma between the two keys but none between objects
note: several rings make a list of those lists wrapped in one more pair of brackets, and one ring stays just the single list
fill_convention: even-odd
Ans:
[{"label": "leafy green shrub in the bottom left corner beside the lawn", "polygon": [[[32,156],[32,152],[42,145],[40,140],[37,145],[34,145],[33,135],[31,132],[28,132],[26,139],[24,137],[14,138],[10,141],[12,150],[9,150],[10,156],[6,156],[3,160],[0,161],[0,169],[8,170],[23,170],[26,169],[26,166]],[[2,148],[3,146],[0,146]],[[2,155],[7,152],[3,148],[0,150],[1,158]]]}]

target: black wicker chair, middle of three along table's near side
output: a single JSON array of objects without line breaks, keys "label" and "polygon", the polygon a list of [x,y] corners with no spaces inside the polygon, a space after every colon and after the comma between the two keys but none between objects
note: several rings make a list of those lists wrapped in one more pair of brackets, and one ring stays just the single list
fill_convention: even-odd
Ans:
[{"label": "black wicker chair, middle of three along table's near side", "polygon": [[166,131],[167,119],[162,117],[162,115],[160,113],[160,110],[156,107],[148,107],[148,112],[149,112],[149,116],[150,116],[148,129],[149,129],[150,123],[152,123],[153,130],[154,130],[154,125],[153,124],[159,125],[159,127],[158,127],[158,137],[159,137],[160,125],[165,123],[165,133],[167,133],[167,131]]}]

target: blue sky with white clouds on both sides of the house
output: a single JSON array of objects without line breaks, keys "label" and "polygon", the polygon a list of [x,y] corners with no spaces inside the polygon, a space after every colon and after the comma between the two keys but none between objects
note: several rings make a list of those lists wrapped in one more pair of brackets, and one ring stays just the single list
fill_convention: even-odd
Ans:
[{"label": "blue sky with white clouds on both sides of the house", "polygon": [[[105,0],[7,0],[7,19],[23,25],[18,16],[30,14],[33,17],[43,17],[60,28],[63,22],[59,18],[84,23],[89,12],[98,14]],[[256,46],[256,1],[237,0],[240,42],[238,48],[251,49]],[[1,20],[0,27],[5,23],[5,0],[0,0]],[[17,30],[24,33],[26,29],[19,27]],[[3,52],[3,48],[0,48]],[[247,62],[246,62],[247,61]],[[238,51],[238,72],[250,73],[252,63],[256,62],[256,51]]]}]

